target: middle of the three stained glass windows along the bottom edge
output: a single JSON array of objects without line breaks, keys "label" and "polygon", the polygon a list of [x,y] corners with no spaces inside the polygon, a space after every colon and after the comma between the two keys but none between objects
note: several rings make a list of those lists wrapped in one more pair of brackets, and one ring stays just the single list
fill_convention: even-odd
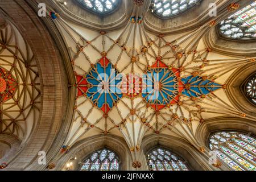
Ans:
[{"label": "middle of the three stained glass windows along the bottom edge", "polygon": [[178,155],[164,148],[155,148],[148,154],[148,167],[153,171],[189,171]]}]

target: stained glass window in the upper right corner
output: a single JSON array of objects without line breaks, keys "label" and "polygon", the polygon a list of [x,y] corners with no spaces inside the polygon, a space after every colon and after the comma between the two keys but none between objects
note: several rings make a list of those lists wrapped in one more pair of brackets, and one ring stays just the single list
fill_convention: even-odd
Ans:
[{"label": "stained glass window in the upper right corner", "polygon": [[220,23],[222,36],[230,39],[256,38],[256,1]]}]

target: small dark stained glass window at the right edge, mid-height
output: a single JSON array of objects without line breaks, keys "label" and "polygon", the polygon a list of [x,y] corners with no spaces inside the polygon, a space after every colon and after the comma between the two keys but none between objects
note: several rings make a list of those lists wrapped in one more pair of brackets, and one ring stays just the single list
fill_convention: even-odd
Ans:
[{"label": "small dark stained glass window at the right edge, mid-height", "polygon": [[252,76],[245,84],[246,96],[256,104],[256,75]]}]

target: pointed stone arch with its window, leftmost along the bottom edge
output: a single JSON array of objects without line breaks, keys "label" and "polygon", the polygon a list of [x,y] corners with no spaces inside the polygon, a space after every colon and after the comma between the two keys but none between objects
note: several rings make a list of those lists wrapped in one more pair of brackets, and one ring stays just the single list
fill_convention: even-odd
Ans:
[{"label": "pointed stone arch with its window, leftmost along the bottom edge", "polygon": [[[102,155],[102,151],[104,150],[107,150],[107,155]],[[108,152],[108,150],[110,152]],[[115,156],[118,156],[118,158]],[[69,152],[59,160],[60,162],[56,163],[55,169],[64,169],[66,163],[63,163],[63,161],[68,163],[70,159],[73,158],[76,158],[76,160],[72,160],[72,170],[77,171],[89,171],[90,164],[100,158],[100,162],[101,160],[102,162],[99,164],[99,168],[102,167],[101,164],[105,162],[105,159],[108,159],[108,168],[110,171],[130,170],[131,164],[133,163],[131,160],[131,152],[125,140],[110,134],[94,135],[93,137],[82,139],[75,143],[69,149]]]}]

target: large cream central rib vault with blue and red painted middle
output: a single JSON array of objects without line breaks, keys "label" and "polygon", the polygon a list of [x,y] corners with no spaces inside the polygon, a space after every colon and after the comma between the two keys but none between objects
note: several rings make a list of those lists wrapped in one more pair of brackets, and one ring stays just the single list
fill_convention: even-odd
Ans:
[{"label": "large cream central rib vault with blue and red painted middle", "polygon": [[[144,29],[143,15],[137,11],[126,27],[110,32],[56,20],[68,35],[65,40],[76,76],[74,122],[67,146],[98,133],[115,134],[135,152],[145,135],[162,133],[200,148],[195,133],[206,119],[255,120],[235,109],[224,92],[229,76],[254,57],[224,56],[205,46],[203,36],[212,23],[179,36],[157,35]],[[114,82],[112,73],[121,73],[122,79]],[[112,87],[121,93],[112,93]]]}]

